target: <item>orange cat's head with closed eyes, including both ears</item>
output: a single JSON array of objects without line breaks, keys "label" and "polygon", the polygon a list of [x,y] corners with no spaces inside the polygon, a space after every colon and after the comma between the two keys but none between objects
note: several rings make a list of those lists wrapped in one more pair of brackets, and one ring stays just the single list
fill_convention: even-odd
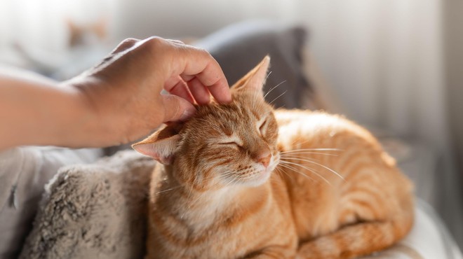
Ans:
[{"label": "orange cat's head with closed eyes, including both ears", "polygon": [[230,104],[198,106],[186,123],[171,123],[133,148],[173,165],[175,177],[196,188],[264,183],[279,162],[274,109],[262,92],[269,62],[265,57],[231,87]]}]

